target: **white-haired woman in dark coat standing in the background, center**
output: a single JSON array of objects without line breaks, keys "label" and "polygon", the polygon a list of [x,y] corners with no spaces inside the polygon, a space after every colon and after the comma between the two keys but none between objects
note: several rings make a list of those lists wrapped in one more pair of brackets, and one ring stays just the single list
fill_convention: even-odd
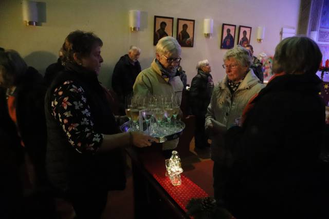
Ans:
[{"label": "white-haired woman in dark coat standing in the background, center", "polygon": [[205,115],[210,103],[214,83],[210,74],[211,67],[207,59],[198,62],[197,74],[193,77],[190,88],[190,108],[195,115],[195,148],[203,149],[210,146],[205,133]]}]

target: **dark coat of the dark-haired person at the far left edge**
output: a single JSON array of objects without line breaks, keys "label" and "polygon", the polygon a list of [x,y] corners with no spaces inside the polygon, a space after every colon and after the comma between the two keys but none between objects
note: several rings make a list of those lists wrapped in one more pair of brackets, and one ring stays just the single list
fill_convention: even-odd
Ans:
[{"label": "dark coat of the dark-haired person at the far left edge", "polygon": [[36,168],[39,180],[45,180],[45,154],[47,130],[44,111],[46,93],[44,79],[38,71],[28,67],[26,73],[17,81],[15,108],[17,127],[20,130],[25,149]]}]

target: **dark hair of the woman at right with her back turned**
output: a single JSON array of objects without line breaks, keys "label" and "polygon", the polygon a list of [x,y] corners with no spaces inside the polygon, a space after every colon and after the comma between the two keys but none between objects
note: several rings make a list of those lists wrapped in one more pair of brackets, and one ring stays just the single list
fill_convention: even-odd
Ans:
[{"label": "dark hair of the woman at right with her back turned", "polygon": [[273,72],[315,74],[321,59],[322,53],[312,39],[300,36],[288,37],[276,47]]}]

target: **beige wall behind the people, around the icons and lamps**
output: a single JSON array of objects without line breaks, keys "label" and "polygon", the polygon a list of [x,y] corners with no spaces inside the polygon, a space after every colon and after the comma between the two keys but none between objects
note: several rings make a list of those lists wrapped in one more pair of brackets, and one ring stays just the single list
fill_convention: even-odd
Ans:
[{"label": "beige wall behind the people, around the icons and lamps", "polygon": [[[273,54],[280,41],[282,27],[298,25],[300,0],[45,0],[47,22],[42,27],[27,27],[22,21],[19,0],[0,1],[0,47],[15,49],[25,61],[44,73],[45,68],[56,62],[58,50],[65,36],[73,30],[94,31],[104,45],[100,80],[111,85],[114,65],[130,45],[142,49],[140,62],[147,68],[154,57],[154,15],[174,17],[174,36],[177,18],[195,19],[194,47],[182,48],[182,67],[191,82],[196,63],[209,59],[212,75],[217,82],[225,75],[222,68],[226,50],[220,48],[222,24],[239,27],[251,26],[251,44],[256,54]],[[129,32],[128,11],[141,11],[141,31]],[[214,19],[213,37],[203,35],[203,19]],[[266,27],[262,44],[255,41],[257,26]],[[237,34],[235,36],[237,38]],[[235,41],[237,41],[235,39]],[[235,42],[236,44],[236,42]]]}]

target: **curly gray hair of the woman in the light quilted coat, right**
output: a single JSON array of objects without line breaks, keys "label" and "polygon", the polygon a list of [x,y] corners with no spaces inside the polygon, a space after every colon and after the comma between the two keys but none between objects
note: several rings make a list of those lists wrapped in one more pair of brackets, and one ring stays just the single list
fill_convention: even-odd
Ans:
[{"label": "curly gray hair of the woman in the light quilted coat, right", "polygon": [[234,58],[240,65],[247,66],[251,65],[250,52],[240,45],[235,46],[233,49],[228,50],[224,55],[224,62],[229,58]]}]

